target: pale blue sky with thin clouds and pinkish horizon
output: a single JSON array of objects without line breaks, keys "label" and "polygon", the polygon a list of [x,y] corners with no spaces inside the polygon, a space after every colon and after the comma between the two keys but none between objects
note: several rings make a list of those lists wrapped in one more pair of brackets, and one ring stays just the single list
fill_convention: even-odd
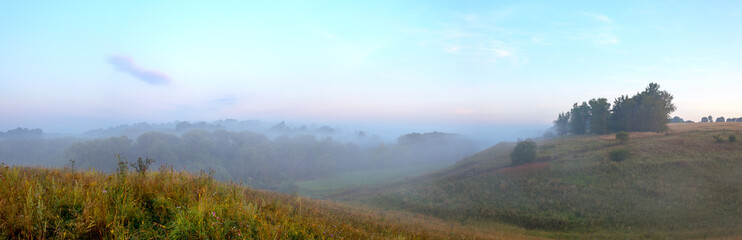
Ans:
[{"label": "pale blue sky with thin clouds and pinkish horizon", "polygon": [[742,117],[742,1],[0,0],[0,130],[550,126],[650,82]]}]

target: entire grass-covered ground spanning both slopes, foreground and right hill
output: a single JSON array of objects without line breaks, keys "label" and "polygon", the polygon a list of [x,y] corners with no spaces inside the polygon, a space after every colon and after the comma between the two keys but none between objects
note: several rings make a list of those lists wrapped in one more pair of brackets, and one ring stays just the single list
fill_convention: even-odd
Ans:
[{"label": "entire grass-covered ground spanning both slopes, foreground and right hill", "polygon": [[[424,169],[300,183],[303,194],[348,203],[168,167],[0,165],[0,239],[736,238],[742,143],[713,137],[729,135],[742,137],[742,124],[670,124],[625,145],[611,135],[540,140],[538,162],[521,166],[510,165],[514,144],[501,143],[418,177],[404,176]],[[611,161],[614,149],[629,158]]]}]

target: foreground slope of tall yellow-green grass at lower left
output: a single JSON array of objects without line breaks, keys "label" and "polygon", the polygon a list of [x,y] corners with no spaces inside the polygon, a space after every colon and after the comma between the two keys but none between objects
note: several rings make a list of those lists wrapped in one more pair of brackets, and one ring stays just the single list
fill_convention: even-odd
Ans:
[{"label": "foreground slope of tall yellow-green grass at lower left", "polygon": [[524,239],[431,217],[139,174],[0,165],[0,239]]}]

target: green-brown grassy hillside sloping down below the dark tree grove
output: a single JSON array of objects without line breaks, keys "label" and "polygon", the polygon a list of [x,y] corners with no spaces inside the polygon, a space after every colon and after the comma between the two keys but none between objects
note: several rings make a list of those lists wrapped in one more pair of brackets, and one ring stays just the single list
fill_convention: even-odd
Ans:
[{"label": "green-brown grassy hillside sloping down below the dark tree grove", "polygon": [[[698,238],[742,234],[740,123],[670,124],[668,133],[538,142],[537,163],[510,166],[498,144],[455,166],[335,198],[487,228],[507,223],[553,237]],[[609,152],[630,151],[614,162]]]}]

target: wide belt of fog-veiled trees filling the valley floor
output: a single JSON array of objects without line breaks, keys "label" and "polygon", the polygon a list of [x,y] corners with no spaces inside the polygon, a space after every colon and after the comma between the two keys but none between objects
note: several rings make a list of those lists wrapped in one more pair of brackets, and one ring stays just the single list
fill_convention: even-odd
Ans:
[{"label": "wide belt of fog-veiled trees filling the valley floor", "polygon": [[359,148],[331,138],[283,135],[275,139],[251,131],[192,130],[182,135],[148,132],[136,140],[126,136],[73,144],[66,151],[78,168],[112,171],[114,155],[149,157],[160,165],[189,171],[211,168],[220,179],[242,181],[274,190],[286,183],[315,179],[340,171],[421,163],[453,163],[475,152],[465,138],[447,133],[412,133],[397,144]]}]

